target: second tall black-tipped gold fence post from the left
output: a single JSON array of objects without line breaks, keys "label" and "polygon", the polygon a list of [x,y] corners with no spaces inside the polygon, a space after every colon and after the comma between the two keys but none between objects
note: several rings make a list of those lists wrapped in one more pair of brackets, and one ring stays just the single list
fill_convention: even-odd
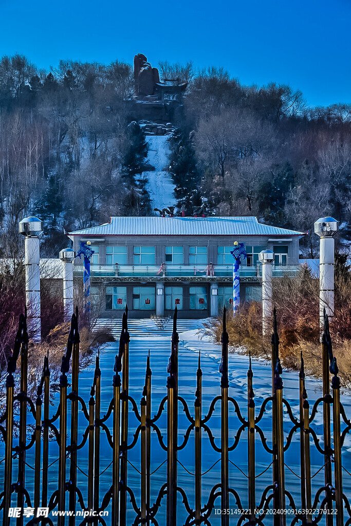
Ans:
[{"label": "second tall black-tipped gold fence post from the left", "polygon": [[[78,441],[78,387],[79,387],[79,332],[78,309],[72,315],[71,330],[68,336],[68,345],[72,346],[72,399],[71,399],[71,443],[69,464],[69,510],[76,510],[76,485],[77,485],[77,441]],[[74,526],[76,518],[68,518],[69,526]]]}]

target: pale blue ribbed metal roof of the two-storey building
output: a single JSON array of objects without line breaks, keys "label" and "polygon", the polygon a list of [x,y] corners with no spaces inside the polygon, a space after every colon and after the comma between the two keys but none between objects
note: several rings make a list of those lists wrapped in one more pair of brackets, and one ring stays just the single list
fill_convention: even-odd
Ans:
[{"label": "pale blue ribbed metal roof of the two-storey building", "polygon": [[301,236],[256,217],[111,217],[109,223],[69,232],[68,236]]}]

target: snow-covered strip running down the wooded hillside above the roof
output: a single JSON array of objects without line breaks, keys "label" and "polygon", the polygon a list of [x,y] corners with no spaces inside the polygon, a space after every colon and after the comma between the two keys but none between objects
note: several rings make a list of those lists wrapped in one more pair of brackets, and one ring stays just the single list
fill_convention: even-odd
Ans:
[{"label": "snow-covered strip running down the wooded hillside above the roof", "polygon": [[169,164],[169,144],[167,135],[148,135],[146,137],[149,151],[147,162],[155,167],[155,171],[144,171],[147,177],[146,189],[150,194],[153,208],[167,208],[175,206],[173,197],[174,185],[167,168]]}]

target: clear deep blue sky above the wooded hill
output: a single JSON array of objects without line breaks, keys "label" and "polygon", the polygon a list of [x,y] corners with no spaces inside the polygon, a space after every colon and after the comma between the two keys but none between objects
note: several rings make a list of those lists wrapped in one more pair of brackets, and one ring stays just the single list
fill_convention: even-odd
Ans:
[{"label": "clear deep blue sky above the wooded hill", "polygon": [[271,80],[308,105],[351,103],[350,0],[0,0],[0,55],[132,63],[136,53]]}]

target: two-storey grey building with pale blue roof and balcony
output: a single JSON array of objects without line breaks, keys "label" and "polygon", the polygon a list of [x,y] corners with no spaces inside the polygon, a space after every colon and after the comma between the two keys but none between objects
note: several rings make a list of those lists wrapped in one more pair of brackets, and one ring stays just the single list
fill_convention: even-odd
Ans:
[{"label": "two-storey grey building with pale blue roof and balcony", "polygon": [[[302,232],[260,224],[256,217],[112,217],[69,232],[73,248],[91,241],[91,295],[101,317],[216,316],[233,297],[234,241],[244,242],[242,301],[262,298],[258,253],[275,254],[273,275],[296,271]],[[79,259],[75,276],[83,275]]]}]

